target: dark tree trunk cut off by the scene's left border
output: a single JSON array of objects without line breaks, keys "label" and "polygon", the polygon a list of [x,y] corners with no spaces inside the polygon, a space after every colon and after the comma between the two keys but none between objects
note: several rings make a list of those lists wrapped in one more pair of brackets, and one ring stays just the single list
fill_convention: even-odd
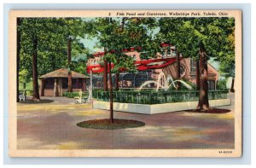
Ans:
[{"label": "dark tree trunk cut off by the scene's left border", "polygon": [[20,18],[17,18],[17,67],[16,67],[16,79],[17,79],[17,85],[16,85],[16,101],[19,102],[19,72],[20,72]]}]

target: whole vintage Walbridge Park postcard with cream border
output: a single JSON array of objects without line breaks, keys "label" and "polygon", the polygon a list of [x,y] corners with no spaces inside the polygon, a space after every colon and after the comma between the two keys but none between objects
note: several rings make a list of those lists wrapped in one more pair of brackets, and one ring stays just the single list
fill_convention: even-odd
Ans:
[{"label": "whole vintage Walbridge Park postcard with cream border", "polygon": [[9,156],[241,157],[240,10],[11,10]]}]

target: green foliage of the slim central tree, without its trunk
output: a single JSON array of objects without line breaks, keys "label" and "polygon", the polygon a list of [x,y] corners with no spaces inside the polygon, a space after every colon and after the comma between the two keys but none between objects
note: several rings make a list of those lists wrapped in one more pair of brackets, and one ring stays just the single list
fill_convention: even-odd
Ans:
[{"label": "green foliage of the slim central tree, without its trunk", "polygon": [[119,72],[120,68],[136,71],[132,57],[125,55],[122,49],[141,47],[152,57],[157,51],[153,46],[159,47],[159,43],[152,42],[153,31],[150,31],[156,26],[154,18],[97,18],[94,24],[95,36],[100,41],[98,47],[108,51],[103,59],[114,64],[113,72]]}]

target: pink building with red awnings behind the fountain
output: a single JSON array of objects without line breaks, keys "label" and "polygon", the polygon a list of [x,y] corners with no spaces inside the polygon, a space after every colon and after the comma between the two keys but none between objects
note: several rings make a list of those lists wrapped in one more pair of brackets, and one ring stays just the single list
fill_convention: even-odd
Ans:
[{"label": "pink building with red awnings behind the fountain", "polygon": [[[120,88],[138,88],[145,81],[158,80],[160,72],[164,72],[165,76],[172,76],[177,78],[177,63],[174,49],[171,52],[161,55],[157,53],[153,59],[142,60],[140,53],[136,50],[131,50],[125,53],[133,57],[134,64],[137,67],[137,72],[120,72],[119,73],[119,87]],[[101,58],[104,53],[96,53],[93,58],[87,62],[87,72],[93,73],[93,86],[95,88],[102,88],[102,72],[103,66],[100,64]],[[113,67],[114,65],[112,65]],[[196,62],[191,58],[183,58],[180,56],[181,78],[189,80],[189,82],[196,84]],[[216,90],[218,81],[218,71],[208,63],[208,88],[209,90]],[[115,78],[113,77],[113,84]],[[148,85],[150,88],[156,87],[156,84]]]}]

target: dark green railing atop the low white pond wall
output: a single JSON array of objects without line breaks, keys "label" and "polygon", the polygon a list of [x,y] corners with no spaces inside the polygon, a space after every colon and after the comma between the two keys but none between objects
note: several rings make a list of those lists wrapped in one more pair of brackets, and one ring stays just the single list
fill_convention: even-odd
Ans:
[{"label": "dark green railing atop the low white pond wall", "polygon": [[[226,99],[227,90],[209,90],[209,100]],[[108,91],[93,91],[93,98],[109,101]],[[169,102],[198,101],[199,91],[113,91],[114,102],[136,104],[162,104]]]}]

